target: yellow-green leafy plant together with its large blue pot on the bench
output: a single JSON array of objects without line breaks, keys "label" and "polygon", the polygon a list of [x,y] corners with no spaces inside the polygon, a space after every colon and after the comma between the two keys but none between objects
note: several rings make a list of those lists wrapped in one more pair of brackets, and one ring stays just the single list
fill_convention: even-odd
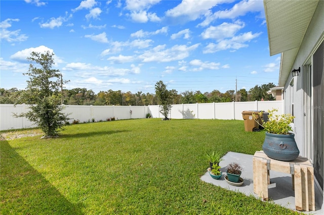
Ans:
[{"label": "yellow-green leafy plant together with its large blue pot on the bench", "polygon": [[[299,155],[299,150],[295,141],[295,134],[291,125],[294,116],[290,114],[276,115],[277,109],[272,109],[268,115],[268,121],[263,120],[263,112],[260,112],[261,123],[255,120],[264,128],[265,139],[262,145],[264,153],[273,159],[290,161]],[[255,117],[255,115],[253,115]]]}]

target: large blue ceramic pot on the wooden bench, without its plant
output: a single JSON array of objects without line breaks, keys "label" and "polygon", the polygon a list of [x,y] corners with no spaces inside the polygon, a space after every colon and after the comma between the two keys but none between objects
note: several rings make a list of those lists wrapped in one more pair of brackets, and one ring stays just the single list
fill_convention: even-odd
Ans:
[{"label": "large blue ceramic pot on the wooden bench, without its plant", "polygon": [[265,132],[262,150],[268,157],[282,161],[294,160],[299,155],[295,134],[271,134]]}]

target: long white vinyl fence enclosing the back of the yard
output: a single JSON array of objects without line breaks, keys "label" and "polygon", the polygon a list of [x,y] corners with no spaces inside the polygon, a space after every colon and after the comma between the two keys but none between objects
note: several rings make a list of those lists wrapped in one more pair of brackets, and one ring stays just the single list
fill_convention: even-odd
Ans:
[{"label": "long white vinyl fence enclosing the back of the yard", "polygon": [[[284,101],[243,101],[225,103],[194,103],[173,104],[169,118],[171,119],[220,119],[243,120],[243,111],[268,111],[278,109],[278,114],[284,113]],[[15,118],[13,114],[26,113],[27,104],[0,104],[0,130],[31,128],[35,125],[24,117]],[[146,114],[152,118],[164,118],[159,112],[158,105],[149,106],[93,106],[65,105],[63,111],[69,114],[69,122],[78,120],[80,123],[115,120],[141,119]]]}]

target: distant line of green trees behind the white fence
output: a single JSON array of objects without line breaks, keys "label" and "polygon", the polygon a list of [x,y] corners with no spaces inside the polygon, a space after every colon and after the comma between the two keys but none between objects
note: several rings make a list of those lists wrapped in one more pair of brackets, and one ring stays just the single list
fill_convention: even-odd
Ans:
[{"label": "distant line of green trees behind the white fence", "polygon": [[[157,84],[163,84],[159,81]],[[189,91],[178,93],[177,90],[168,90],[171,104],[182,103],[212,103],[212,102],[231,102],[235,101],[255,101],[261,100],[275,100],[275,98],[267,93],[271,87],[274,87],[273,83],[263,84],[261,86],[256,85],[249,91],[246,89],[240,89],[235,96],[235,90],[227,90],[225,93],[219,90],[213,90],[212,92],[202,93],[198,91]],[[32,104],[32,99],[26,99],[22,96],[26,90],[18,90],[17,88],[4,89],[0,88],[0,103],[2,104],[14,104],[14,103],[26,103]],[[143,93],[138,91],[136,93],[121,92],[121,90],[108,90],[100,91],[96,94],[91,89],[86,88],[74,88],[63,89],[61,102],[64,104],[76,104],[76,105],[156,105],[159,104],[158,93]]]}]

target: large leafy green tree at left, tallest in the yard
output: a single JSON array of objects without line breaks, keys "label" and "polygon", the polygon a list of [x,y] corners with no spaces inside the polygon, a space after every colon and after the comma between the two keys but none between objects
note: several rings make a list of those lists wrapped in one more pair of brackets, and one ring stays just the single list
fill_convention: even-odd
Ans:
[{"label": "large leafy green tree at left, tallest in the yard", "polygon": [[[67,115],[62,113],[63,106],[60,104],[61,74],[59,70],[53,70],[54,53],[31,52],[27,60],[29,70],[26,91],[23,97],[30,103],[30,111],[17,117],[26,117],[42,129],[45,137],[57,136],[59,130],[68,121]],[[41,66],[37,68],[36,65]],[[67,81],[64,81],[66,83]]]}]

